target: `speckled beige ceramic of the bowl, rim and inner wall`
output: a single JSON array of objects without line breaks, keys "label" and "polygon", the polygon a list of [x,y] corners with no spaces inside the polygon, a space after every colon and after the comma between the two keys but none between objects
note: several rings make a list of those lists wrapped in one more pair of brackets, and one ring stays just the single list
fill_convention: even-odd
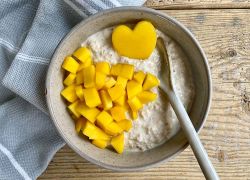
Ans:
[{"label": "speckled beige ceramic of the bowl, rim and inner wall", "polygon": [[187,28],[172,17],[155,10],[143,7],[114,8],[82,21],[59,44],[50,63],[46,80],[47,104],[50,115],[66,143],[90,162],[117,171],[142,170],[167,161],[188,146],[187,139],[183,132],[179,131],[159,147],[146,152],[125,152],[121,155],[112,150],[96,148],[75,132],[74,122],[60,96],[60,91],[63,89],[61,64],[65,56],[72,54],[90,35],[106,27],[137,22],[141,19],[151,21],[157,29],[178,42],[186,53],[193,73],[196,92],[189,115],[196,130],[199,131],[205,122],[211,101],[211,77],[205,54]]}]

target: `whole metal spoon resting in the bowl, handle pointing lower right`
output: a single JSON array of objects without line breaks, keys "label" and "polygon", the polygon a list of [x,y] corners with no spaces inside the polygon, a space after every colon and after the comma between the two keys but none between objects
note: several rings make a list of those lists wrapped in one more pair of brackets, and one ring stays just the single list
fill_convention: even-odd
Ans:
[{"label": "whole metal spoon resting in the bowl, handle pointing lower right", "polygon": [[164,40],[161,37],[157,39],[157,47],[162,55],[162,58],[167,64],[167,68],[164,68],[164,72],[161,73],[162,83],[160,85],[160,89],[167,95],[204,176],[206,177],[206,179],[217,180],[219,179],[219,176],[217,175],[211,161],[209,160],[206,150],[204,149],[182,102],[180,101],[178,95],[174,92],[171,75],[171,64],[168,58]]}]

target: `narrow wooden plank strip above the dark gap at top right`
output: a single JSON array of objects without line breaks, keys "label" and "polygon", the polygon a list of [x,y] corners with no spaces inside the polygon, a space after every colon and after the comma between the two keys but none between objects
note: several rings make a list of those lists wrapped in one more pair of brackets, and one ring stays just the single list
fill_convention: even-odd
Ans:
[{"label": "narrow wooden plank strip above the dark gap at top right", "polygon": [[250,8],[249,0],[148,0],[145,5],[154,9],[243,9]]}]

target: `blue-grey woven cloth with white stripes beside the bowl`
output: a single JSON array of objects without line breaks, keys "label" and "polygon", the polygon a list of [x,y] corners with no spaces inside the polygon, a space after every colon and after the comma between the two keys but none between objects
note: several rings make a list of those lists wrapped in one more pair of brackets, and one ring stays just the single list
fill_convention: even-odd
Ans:
[{"label": "blue-grey woven cloth with white stripes beside the bowl", "polygon": [[1,0],[0,179],[36,179],[64,141],[47,113],[46,71],[60,40],[103,9],[144,0]]}]

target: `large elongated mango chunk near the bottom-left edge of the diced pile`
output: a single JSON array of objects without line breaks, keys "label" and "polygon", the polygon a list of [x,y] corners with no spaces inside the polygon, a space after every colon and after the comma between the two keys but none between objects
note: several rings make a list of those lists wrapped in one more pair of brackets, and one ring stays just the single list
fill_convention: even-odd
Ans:
[{"label": "large elongated mango chunk near the bottom-left edge of the diced pile", "polygon": [[85,136],[88,136],[89,139],[101,139],[107,141],[110,139],[110,136],[89,121],[87,121],[82,127],[82,133]]}]

